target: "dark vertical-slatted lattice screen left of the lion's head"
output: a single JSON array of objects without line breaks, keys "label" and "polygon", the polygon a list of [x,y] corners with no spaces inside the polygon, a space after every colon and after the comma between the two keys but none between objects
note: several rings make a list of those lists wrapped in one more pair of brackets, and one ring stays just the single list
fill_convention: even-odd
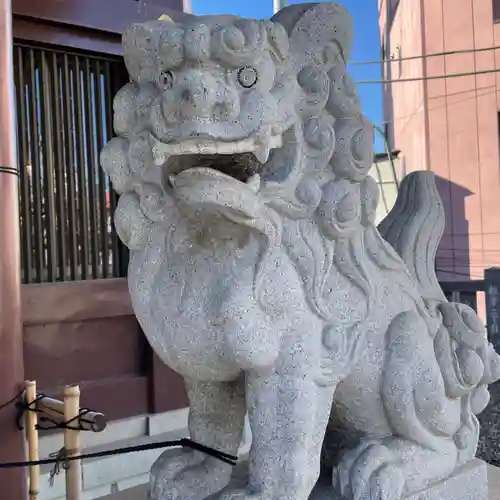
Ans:
[{"label": "dark vertical-slatted lattice screen left of the lion's head", "polygon": [[23,283],[123,276],[99,167],[123,60],[16,43],[14,65]]}]

